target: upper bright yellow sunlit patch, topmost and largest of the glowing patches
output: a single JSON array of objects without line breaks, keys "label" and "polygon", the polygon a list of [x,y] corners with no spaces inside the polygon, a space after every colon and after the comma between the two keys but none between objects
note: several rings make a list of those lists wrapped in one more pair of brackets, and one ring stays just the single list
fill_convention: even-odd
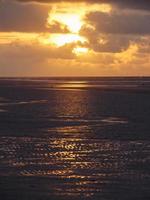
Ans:
[{"label": "upper bright yellow sunlit patch, topmost and largest of the glowing patches", "polygon": [[93,4],[88,5],[85,3],[69,4],[63,3],[53,6],[49,12],[47,19],[47,26],[53,24],[53,22],[59,22],[66,25],[71,33],[78,33],[85,24],[84,17],[87,13],[92,11],[110,12],[111,6],[109,4]]}]

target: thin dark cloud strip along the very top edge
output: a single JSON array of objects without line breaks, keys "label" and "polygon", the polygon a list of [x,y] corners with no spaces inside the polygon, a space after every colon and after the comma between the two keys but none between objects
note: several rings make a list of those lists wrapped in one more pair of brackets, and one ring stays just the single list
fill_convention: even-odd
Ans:
[{"label": "thin dark cloud strip along the very top edge", "polygon": [[120,8],[129,9],[143,9],[150,11],[150,1],[149,0],[18,0],[20,2],[40,2],[40,3],[56,3],[56,2],[87,2],[87,3],[110,3]]}]

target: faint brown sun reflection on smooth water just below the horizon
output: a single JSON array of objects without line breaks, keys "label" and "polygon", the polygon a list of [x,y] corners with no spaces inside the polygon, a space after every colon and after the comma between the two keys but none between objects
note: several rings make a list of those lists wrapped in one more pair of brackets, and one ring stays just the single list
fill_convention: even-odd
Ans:
[{"label": "faint brown sun reflection on smooth water just below the horizon", "polygon": [[[80,86],[80,83],[66,83],[66,85],[62,84],[58,87],[75,87],[77,85]],[[74,90],[72,91],[62,91],[62,92],[55,92],[55,100],[57,102],[57,106],[53,108],[53,112],[57,118],[69,120],[69,119],[80,119],[84,117],[89,112],[89,106],[87,103],[87,98],[89,99],[90,96],[88,95],[87,91],[80,92],[76,95]],[[66,130],[67,133],[68,130]]]}]

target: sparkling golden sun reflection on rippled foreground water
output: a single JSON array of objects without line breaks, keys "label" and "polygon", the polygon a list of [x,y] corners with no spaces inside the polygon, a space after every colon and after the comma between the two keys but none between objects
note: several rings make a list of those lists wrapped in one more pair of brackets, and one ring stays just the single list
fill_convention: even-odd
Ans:
[{"label": "sparkling golden sun reflection on rippled foreground water", "polygon": [[[143,148],[142,141],[85,139],[82,134],[76,139],[63,135],[61,138],[3,137],[0,145],[0,154],[5,155],[0,157],[1,166],[5,166],[0,174],[46,178],[41,187],[65,198],[105,194],[117,181],[138,179],[134,171],[128,174],[127,165],[142,161],[139,153]],[[148,152],[148,143],[144,149]]]}]

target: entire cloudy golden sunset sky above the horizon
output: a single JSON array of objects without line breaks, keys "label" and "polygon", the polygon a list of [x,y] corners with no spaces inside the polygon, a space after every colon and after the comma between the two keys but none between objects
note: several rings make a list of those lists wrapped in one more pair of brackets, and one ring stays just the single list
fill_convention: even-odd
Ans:
[{"label": "entire cloudy golden sunset sky above the horizon", "polygon": [[0,0],[0,76],[150,76],[150,1]]}]

